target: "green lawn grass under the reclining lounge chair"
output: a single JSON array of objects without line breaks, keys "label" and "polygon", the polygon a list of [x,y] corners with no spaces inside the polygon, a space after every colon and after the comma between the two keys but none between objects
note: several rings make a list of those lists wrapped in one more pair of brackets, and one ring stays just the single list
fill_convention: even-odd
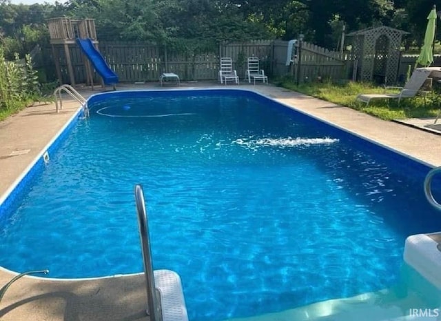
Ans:
[{"label": "green lawn grass under the reclining lounge chair", "polygon": [[398,93],[398,91],[385,91],[381,86],[353,81],[345,81],[341,84],[331,81],[309,82],[297,86],[289,78],[278,81],[278,86],[360,110],[385,120],[435,117],[441,101],[440,95],[433,92],[427,95],[425,102],[424,97],[405,98],[400,104],[398,99],[373,99],[369,106],[366,106],[365,103],[356,101],[358,94]]}]

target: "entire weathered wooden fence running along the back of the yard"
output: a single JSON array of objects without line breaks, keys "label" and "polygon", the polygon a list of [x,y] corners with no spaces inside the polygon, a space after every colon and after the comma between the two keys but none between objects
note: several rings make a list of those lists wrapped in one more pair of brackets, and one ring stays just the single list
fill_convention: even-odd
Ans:
[{"label": "entire weathered wooden fence running along the back of the yard", "polygon": [[[330,51],[314,44],[302,42],[300,55],[300,70],[298,59],[287,63],[288,41],[258,40],[245,43],[220,43],[217,50],[207,52],[180,52],[166,46],[148,42],[101,41],[99,51],[119,76],[121,82],[158,81],[163,72],[174,72],[182,80],[216,80],[218,79],[220,57],[231,57],[240,79],[245,78],[247,57],[258,57],[260,68],[269,77],[289,75],[294,79],[314,81],[322,79],[350,79],[353,61],[340,52]],[[69,84],[68,66],[62,47],[57,55],[60,59],[63,84]],[[46,70],[54,69],[53,52],[48,48],[43,50]],[[78,46],[69,45],[70,57],[77,84],[86,82],[85,57]],[[293,50],[298,54],[298,46]],[[401,59],[400,73],[404,66],[415,64],[416,58]],[[288,59],[291,60],[291,59]],[[404,72],[405,73],[405,72]],[[99,81],[99,77],[95,77]]]}]

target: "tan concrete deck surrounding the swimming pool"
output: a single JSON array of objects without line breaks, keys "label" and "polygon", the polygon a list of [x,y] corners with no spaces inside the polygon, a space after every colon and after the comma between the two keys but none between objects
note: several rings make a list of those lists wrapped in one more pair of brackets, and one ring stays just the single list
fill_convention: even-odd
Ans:
[{"label": "tan concrete deck surrounding the swimming pool", "polygon": [[[171,87],[161,88],[157,83],[118,86],[121,90],[167,90],[169,88]],[[336,124],[340,128],[366,137],[399,153],[420,159],[434,167],[441,166],[441,135],[438,133],[438,127],[429,128],[433,130],[433,133],[427,131],[427,126],[433,124],[433,119],[407,119],[406,121],[409,122],[407,125],[394,121],[382,121],[351,108],[271,85],[223,86],[214,82],[182,82],[179,88],[256,90],[283,104],[294,106],[304,113]],[[99,93],[99,90],[92,92],[83,89],[79,92],[87,98],[94,93]],[[0,195],[8,191],[79,108],[79,103],[70,97],[65,97],[63,101],[61,113],[55,112],[55,104],[41,104],[26,108],[6,121],[0,122]],[[441,132],[441,128],[439,131]],[[45,268],[46,266],[36,266],[36,269]],[[0,269],[0,289],[14,275]],[[185,280],[182,281],[185,286]],[[148,320],[149,318],[145,316],[146,307],[145,282],[142,274],[69,282],[24,277],[12,284],[6,291],[0,302],[0,320]]]}]

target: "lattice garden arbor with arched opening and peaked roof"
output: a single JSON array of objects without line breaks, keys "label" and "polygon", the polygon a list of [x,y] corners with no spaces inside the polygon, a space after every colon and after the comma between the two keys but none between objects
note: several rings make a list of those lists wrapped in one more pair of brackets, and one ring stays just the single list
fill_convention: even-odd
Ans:
[{"label": "lattice garden arbor with arched opening and peaked roof", "polygon": [[409,32],[381,26],[351,32],[353,79],[395,84],[402,35]]}]

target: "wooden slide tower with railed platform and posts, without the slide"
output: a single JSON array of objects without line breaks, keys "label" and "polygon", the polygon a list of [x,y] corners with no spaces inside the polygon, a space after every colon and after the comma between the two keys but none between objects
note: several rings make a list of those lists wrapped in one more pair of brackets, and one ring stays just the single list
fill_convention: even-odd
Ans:
[{"label": "wooden slide tower with railed platform and posts, without the slide", "polygon": [[[74,69],[72,67],[72,59],[70,58],[69,46],[76,45],[76,38],[90,38],[94,46],[98,46],[96,39],[95,19],[74,20],[70,18],[53,18],[48,20],[48,28],[50,34],[50,45],[52,47],[52,54],[54,55],[55,68],[57,70],[57,77],[60,84],[63,84],[61,76],[61,64],[58,46],[64,47],[66,64],[68,66],[68,74],[70,84],[75,85]],[[92,81],[93,73],[92,66],[88,59],[85,59],[85,68],[88,81]]]}]

